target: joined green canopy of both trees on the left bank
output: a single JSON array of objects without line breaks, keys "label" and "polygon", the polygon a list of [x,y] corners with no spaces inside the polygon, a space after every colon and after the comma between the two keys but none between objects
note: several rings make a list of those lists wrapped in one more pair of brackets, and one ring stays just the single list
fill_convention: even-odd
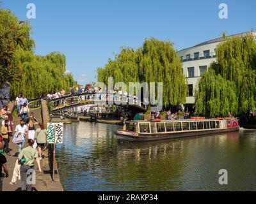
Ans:
[{"label": "joined green canopy of both trees on the left bank", "polygon": [[35,55],[30,33],[27,22],[20,22],[11,11],[0,9],[0,84],[10,82],[13,97],[19,92],[36,98],[54,89],[69,91],[76,82],[71,73],[66,73],[65,55]]}]

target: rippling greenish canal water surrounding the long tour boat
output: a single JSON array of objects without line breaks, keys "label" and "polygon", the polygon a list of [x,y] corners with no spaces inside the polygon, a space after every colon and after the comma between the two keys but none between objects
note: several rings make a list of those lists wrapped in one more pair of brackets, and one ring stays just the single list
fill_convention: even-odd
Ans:
[{"label": "rippling greenish canal water surrounding the long tour boat", "polygon": [[[56,148],[65,191],[256,191],[256,131],[118,143],[119,126],[66,124]],[[218,182],[228,171],[228,185]]]}]

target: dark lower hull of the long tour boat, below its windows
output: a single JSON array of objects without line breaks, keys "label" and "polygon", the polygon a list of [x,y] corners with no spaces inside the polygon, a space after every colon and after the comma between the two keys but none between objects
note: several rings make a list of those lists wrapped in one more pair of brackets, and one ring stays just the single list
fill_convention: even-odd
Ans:
[{"label": "dark lower hull of the long tour boat, below its windows", "polygon": [[145,134],[138,134],[138,136],[134,135],[125,135],[120,134],[118,131],[116,132],[117,140],[120,142],[150,142],[156,140],[170,140],[175,138],[184,138],[184,137],[193,137],[193,136],[200,136],[200,135],[209,135],[209,134],[216,134],[216,133],[228,133],[239,131],[239,126],[234,128],[225,128],[225,129],[209,129],[205,131],[188,131],[182,133],[159,133],[154,135],[145,135]]}]

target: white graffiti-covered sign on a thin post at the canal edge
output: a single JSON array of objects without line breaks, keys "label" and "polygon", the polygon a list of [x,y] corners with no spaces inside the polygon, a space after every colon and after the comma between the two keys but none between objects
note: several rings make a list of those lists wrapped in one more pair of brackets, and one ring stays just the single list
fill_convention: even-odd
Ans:
[{"label": "white graffiti-covered sign on a thin post at the canal edge", "polygon": [[47,143],[53,144],[53,155],[52,155],[52,180],[54,180],[55,174],[55,145],[63,142],[63,123],[52,123],[47,124]]}]

